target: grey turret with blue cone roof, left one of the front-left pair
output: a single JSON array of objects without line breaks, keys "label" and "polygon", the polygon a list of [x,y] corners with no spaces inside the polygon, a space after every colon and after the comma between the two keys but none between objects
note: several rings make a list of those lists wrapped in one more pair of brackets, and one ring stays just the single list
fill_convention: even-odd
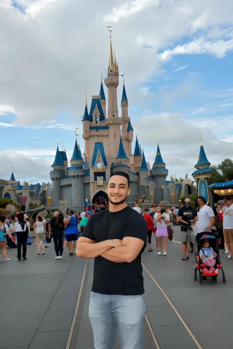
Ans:
[{"label": "grey turret with blue cone roof, left one of the front-left pair", "polygon": [[56,156],[52,164],[53,170],[50,172],[50,178],[53,182],[53,203],[52,206],[60,206],[59,201],[61,200],[61,187],[60,179],[65,174],[64,166],[64,154],[62,151],[59,151],[57,147]]}]

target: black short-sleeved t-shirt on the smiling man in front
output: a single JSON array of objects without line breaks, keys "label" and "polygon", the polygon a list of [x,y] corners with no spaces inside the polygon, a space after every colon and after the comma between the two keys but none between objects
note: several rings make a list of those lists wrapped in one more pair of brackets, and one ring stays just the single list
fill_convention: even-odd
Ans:
[{"label": "black short-sleeved t-shirt on the smiling man in front", "polygon": [[141,255],[146,247],[146,220],[127,206],[118,212],[105,210],[90,216],[81,236],[102,242],[124,237],[138,238],[144,246],[138,257],[131,263],[115,263],[101,256],[94,261],[92,291],[103,295],[143,295],[143,268]]}]

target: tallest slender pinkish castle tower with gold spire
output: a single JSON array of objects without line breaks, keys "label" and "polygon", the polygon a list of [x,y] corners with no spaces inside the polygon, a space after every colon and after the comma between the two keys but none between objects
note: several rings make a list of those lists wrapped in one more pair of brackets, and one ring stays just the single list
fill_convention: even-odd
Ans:
[{"label": "tallest slender pinkish castle tower with gold spire", "polygon": [[118,116],[117,107],[117,86],[119,85],[119,69],[117,60],[113,58],[112,36],[110,35],[110,54],[108,78],[105,79],[105,85],[108,88],[108,118],[106,125],[109,127],[109,156],[108,161],[111,163],[117,156],[118,145],[120,141],[121,118]]}]

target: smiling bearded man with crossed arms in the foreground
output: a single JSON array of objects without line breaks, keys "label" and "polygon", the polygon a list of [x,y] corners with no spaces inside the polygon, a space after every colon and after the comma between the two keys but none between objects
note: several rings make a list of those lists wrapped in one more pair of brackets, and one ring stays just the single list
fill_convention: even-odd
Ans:
[{"label": "smiling bearded man with crossed arms in the foreground", "polygon": [[89,319],[98,349],[114,347],[116,330],[121,348],[143,348],[141,255],[146,247],[147,224],[126,204],[129,184],[128,174],[112,174],[109,209],[89,218],[76,247],[78,257],[95,259]]}]

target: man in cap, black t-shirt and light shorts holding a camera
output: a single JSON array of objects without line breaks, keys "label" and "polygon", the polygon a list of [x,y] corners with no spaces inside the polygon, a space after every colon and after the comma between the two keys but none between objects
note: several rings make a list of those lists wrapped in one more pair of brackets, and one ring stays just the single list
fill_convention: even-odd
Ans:
[{"label": "man in cap, black t-shirt and light shorts holding a camera", "polygon": [[[176,219],[176,223],[179,223],[179,222],[181,223],[181,227],[180,227],[181,242],[182,242],[182,252],[184,255],[181,258],[182,261],[186,261],[187,259],[189,259],[189,256],[187,255],[188,254],[188,242],[191,242],[191,234],[188,231],[189,222],[193,223],[193,222],[197,221],[197,217],[198,217],[197,210],[194,209],[192,206],[190,206],[190,204],[191,204],[190,199],[186,198],[184,200],[184,205],[179,208],[178,217]],[[191,220],[190,220],[190,218],[187,218],[188,213],[191,215]],[[191,245],[191,243],[190,243],[190,245]],[[193,244],[191,245],[191,248],[193,248]]]}]

